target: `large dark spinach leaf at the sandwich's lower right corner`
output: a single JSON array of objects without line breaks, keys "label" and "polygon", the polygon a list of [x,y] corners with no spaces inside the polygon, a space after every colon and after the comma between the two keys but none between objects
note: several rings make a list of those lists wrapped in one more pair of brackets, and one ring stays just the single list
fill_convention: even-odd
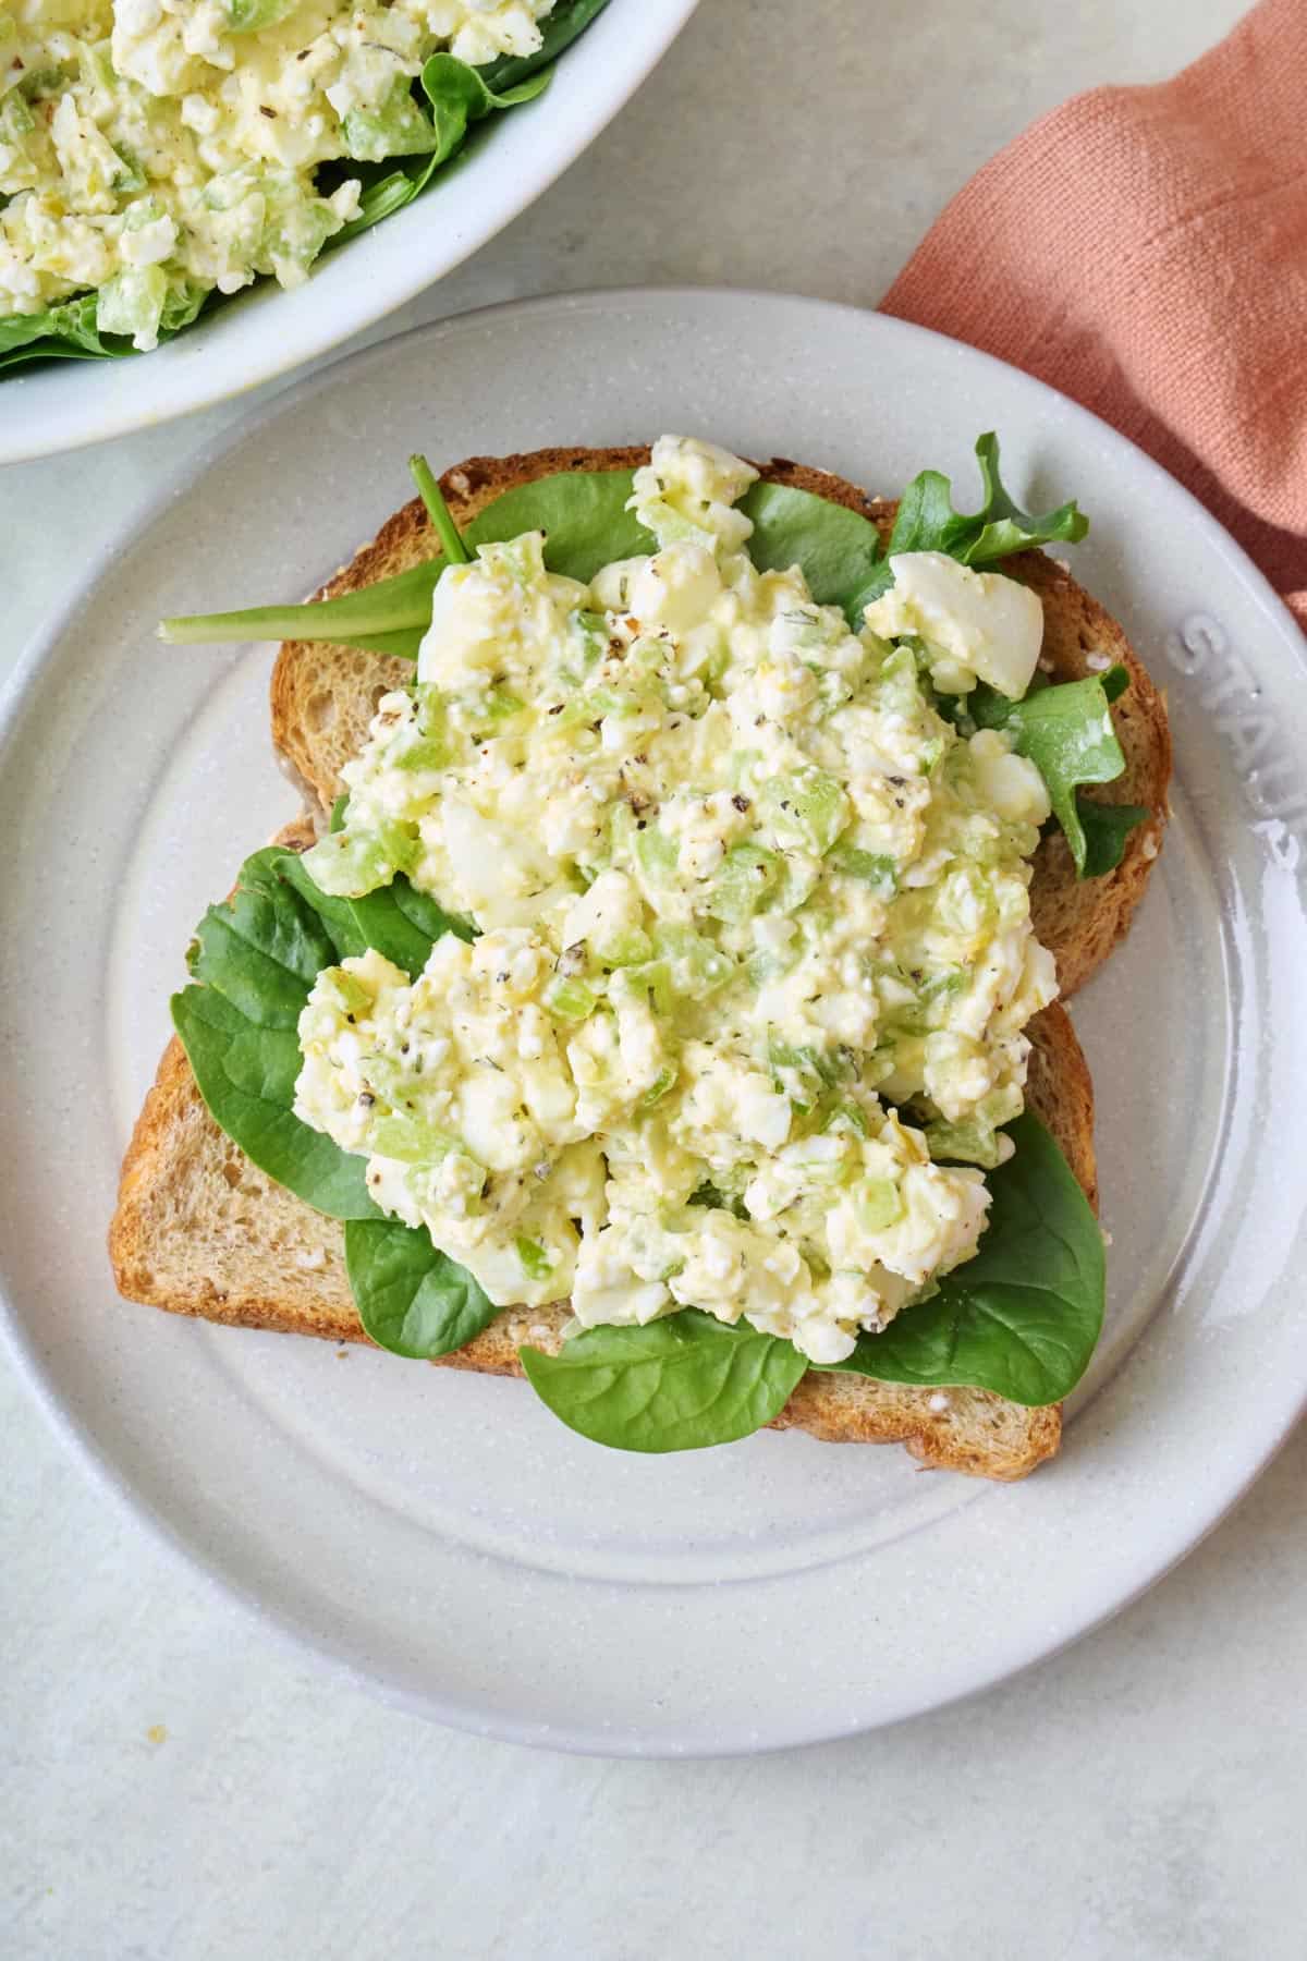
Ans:
[{"label": "large dark spinach leaf at the sandwich's lower right corner", "polygon": [[992,1388],[1039,1408],[1068,1396],[1103,1326],[1103,1235],[1039,1118],[1009,1126],[1015,1155],[990,1173],[980,1251],[884,1333],[833,1367],[878,1383]]}]

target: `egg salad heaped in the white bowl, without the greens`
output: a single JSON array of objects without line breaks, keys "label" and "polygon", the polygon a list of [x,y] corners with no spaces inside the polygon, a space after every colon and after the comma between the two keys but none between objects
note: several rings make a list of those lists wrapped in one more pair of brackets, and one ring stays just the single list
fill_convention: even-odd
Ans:
[{"label": "egg salad heaped in the white bowl, without the greens", "polygon": [[[294,286],[421,155],[429,55],[531,55],[555,0],[4,0],[0,322],[98,290],[153,347],[218,288]],[[333,188],[317,180],[333,165]]]}]

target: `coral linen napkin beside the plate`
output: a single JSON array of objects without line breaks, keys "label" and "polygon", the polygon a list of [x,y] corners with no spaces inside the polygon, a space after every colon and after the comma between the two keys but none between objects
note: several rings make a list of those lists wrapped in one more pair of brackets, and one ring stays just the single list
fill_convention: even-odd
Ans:
[{"label": "coral linen napkin beside the plate", "polygon": [[1095,88],[962,190],[882,310],[1039,375],[1234,533],[1307,626],[1307,0]]}]

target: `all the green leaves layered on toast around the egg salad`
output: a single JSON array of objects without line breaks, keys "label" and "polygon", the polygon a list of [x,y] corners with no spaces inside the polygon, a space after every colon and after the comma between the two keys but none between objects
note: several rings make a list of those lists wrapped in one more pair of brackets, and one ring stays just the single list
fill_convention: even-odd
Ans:
[{"label": "all the green leaves layered on toast around the egg salad", "polygon": [[[798,565],[813,598],[845,610],[850,624],[894,580],[896,551],[944,551],[990,565],[1027,545],[1084,535],[1074,504],[1044,516],[1021,512],[999,477],[997,441],[976,445],[986,500],[952,510],[946,478],[923,473],[903,496],[888,551],[876,526],[807,490],[756,482],[741,508],[752,522],[749,555],[758,569]],[[553,573],[590,580],[619,559],[653,553],[656,539],[629,510],[629,473],[566,473],[523,484],[490,504],[462,537],[439,488],[415,469],[445,551],[396,578],[341,600],[165,622],[174,643],[233,637],[302,637],[413,659],[431,622],[437,580],[468,547],[545,533]],[[1042,677],[1041,677],[1042,680]],[[958,706],[972,728],[1003,728],[1048,786],[1080,877],[1121,857],[1142,812],[1080,800],[1080,784],[1119,777],[1125,755],[1109,704],[1127,684],[1123,669],[1070,684],[1042,684],[1007,702],[976,688]],[[1103,814],[1107,812],[1107,814]],[[339,826],[345,814],[337,810]],[[341,839],[345,837],[339,831]],[[874,882],[876,867],[852,867]],[[417,975],[441,935],[472,939],[472,928],[441,910],[400,871],[364,896],[325,892],[288,849],[268,847],[241,867],[229,900],[204,916],[190,949],[192,982],[172,1002],[178,1035],[200,1092],[221,1130],[268,1177],[345,1226],[345,1257],[368,1335],[408,1357],[462,1347],[500,1312],[425,1228],[384,1214],[368,1192],[364,1157],[341,1149],[294,1114],[302,1051],[296,1030],[317,977],[374,949]],[[566,1004],[564,1004],[566,1006]],[[586,1012],[586,1010],[582,1010]],[[803,1057],[778,1055],[790,1084]],[[798,1094],[798,1090],[796,1090]],[[819,1073],[813,1094],[835,1090]],[[833,1106],[837,1108],[837,1104]],[[1015,1402],[1060,1400],[1084,1373],[1103,1312],[1103,1241],[1093,1214],[1054,1139],[1031,1114],[1007,1126],[1011,1155],[990,1163],[992,1208],[978,1253],[944,1273],[925,1298],[882,1332],[858,1339],[831,1367],[880,1381],[980,1386]],[[939,1139],[946,1145],[946,1137]],[[946,1147],[939,1155],[948,1155]],[[960,1155],[966,1157],[968,1149]],[[703,1194],[702,1202],[719,1202]],[[533,1249],[519,1247],[523,1267]],[[521,1349],[537,1394],[570,1428],[596,1441],[639,1449],[694,1449],[731,1441],[770,1422],[807,1361],[778,1335],[747,1320],[735,1326],[684,1306],[647,1326],[574,1332],[558,1355]]]}]

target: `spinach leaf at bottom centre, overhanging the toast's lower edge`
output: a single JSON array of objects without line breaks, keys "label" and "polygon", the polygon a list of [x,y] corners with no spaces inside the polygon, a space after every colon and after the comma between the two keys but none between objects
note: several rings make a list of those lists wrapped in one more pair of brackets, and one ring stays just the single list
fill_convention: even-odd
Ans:
[{"label": "spinach leaf at bottom centre, overhanging the toast's lower edge", "polygon": [[621,1451],[700,1451],[780,1414],[807,1361],[747,1322],[682,1308],[647,1328],[588,1328],[558,1355],[519,1349],[531,1388],[568,1430]]}]

